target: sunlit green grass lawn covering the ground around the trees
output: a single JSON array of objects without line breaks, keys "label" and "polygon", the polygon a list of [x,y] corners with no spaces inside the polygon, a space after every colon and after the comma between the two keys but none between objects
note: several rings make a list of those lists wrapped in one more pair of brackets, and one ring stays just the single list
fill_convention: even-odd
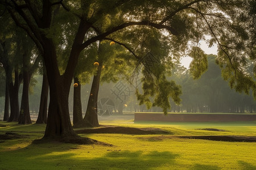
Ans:
[{"label": "sunlit green grass lawn covering the ground around the trees", "polygon": [[[102,121],[101,124],[162,128],[174,135],[256,136],[256,122],[165,123]],[[0,122],[27,138],[0,140],[0,169],[256,169],[256,143],[173,138],[172,135],[81,134],[113,146],[32,144],[46,125]],[[227,131],[198,130],[216,128]]]}]

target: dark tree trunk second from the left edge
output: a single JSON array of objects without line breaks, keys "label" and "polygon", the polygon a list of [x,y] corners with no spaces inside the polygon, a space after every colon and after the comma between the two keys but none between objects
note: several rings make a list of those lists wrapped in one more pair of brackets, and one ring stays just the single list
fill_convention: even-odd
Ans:
[{"label": "dark tree trunk second from the left edge", "polygon": [[[15,69],[15,82],[13,85],[13,80],[9,80],[9,94],[10,94],[10,106],[11,114],[9,122],[18,121],[19,118],[19,73],[18,69]],[[11,75],[10,77],[11,78]]]}]

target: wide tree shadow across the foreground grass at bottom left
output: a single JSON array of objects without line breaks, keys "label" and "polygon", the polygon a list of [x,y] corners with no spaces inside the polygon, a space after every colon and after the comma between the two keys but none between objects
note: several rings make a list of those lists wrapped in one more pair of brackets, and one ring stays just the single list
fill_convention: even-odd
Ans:
[{"label": "wide tree shadow across the foreground grass at bottom left", "polygon": [[[94,146],[98,147],[98,146]],[[82,151],[79,145],[60,146],[29,145],[14,151],[2,152],[2,156],[8,155],[10,159],[15,157],[15,166],[23,169],[156,169],[161,167],[175,168],[177,154],[164,151],[121,151],[115,147],[99,146],[101,155],[93,155],[93,146]],[[80,150],[78,154],[72,152]],[[99,148],[97,148],[99,149]],[[69,152],[71,151],[71,152]],[[9,152],[9,154],[7,153]],[[11,152],[11,153],[10,153]],[[82,152],[82,154],[81,154]],[[92,153],[91,153],[92,152]],[[12,164],[5,163],[3,169],[14,169]]]}]

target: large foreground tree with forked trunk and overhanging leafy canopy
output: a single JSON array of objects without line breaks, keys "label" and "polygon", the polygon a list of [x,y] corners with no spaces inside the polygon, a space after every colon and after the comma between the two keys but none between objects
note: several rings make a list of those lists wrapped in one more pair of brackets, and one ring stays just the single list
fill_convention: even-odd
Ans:
[{"label": "large foreground tree with forked trunk and overhanging leafy canopy", "polygon": [[[1,1],[2,2],[2,1]],[[6,3],[5,3],[6,2]],[[194,58],[195,75],[203,73],[206,67],[206,56],[199,48],[188,48],[188,44],[196,44],[204,35],[211,35],[212,42],[217,42],[220,48],[220,58],[218,63],[222,66],[226,75],[225,79],[230,81],[230,85],[238,91],[248,92],[253,89],[256,96],[254,80],[243,73],[241,68],[247,62],[244,58],[250,56],[250,60],[255,60],[255,47],[253,47],[255,37],[255,25],[249,23],[248,9],[254,1],[43,1],[34,3],[31,1],[5,1],[8,11],[13,16],[16,24],[25,29],[28,35],[38,46],[46,64],[49,81],[50,101],[48,111],[48,122],[44,138],[70,138],[78,139],[71,127],[68,113],[68,94],[79,54],[82,49],[88,47],[93,42],[114,36],[122,29],[129,29],[133,25],[144,25],[147,28],[165,29],[168,32],[166,37],[170,40],[170,48],[173,56],[189,50]],[[76,35],[73,37],[72,48],[69,52],[67,67],[60,73],[57,62],[57,48],[64,46],[63,41],[58,41],[63,27],[57,27],[55,18],[52,18],[56,10],[62,10],[61,16],[73,17],[73,23],[79,23]],[[64,10],[67,10],[65,12]],[[118,18],[117,18],[118,16]],[[244,17],[242,17],[244,16]],[[114,22],[109,22],[115,17]],[[72,25],[62,21],[61,25]],[[58,24],[60,25],[60,24]],[[103,25],[103,26],[102,26]],[[249,31],[243,27],[249,27]],[[225,28],[225,29],[224,29]],[[58,30],[59,29],[59,30]],[[94,29],[98,35],[86,39],[85,34],[90,29]],[[231,33],[230,33],[231,32]],[[252,36],[251,36],[252,35]],[[64,40],[63,37],[62,40]],[[239,43],[237,43],[239,42]],[[236,48],[233,48],[233,43]],[[249,45],[247,45],[249,44]],[[138,46],[137,46],[138,47]],[[135,48],[135,47],[134,47]],[[240,53],[234,53],[234,52]],[[248,54],[248,55],[242,55]],[[248,57],[247,57],[248,56]],[[142,58],[137,58],[141,61]],[[164,62],[164,58],[160,59]],[[152,79],[152,74],[148,73],[148,66],[145,66],[143,74],[143,94],[138,95],[141,103],[150,105],[149,98],[155,96],[155,105],[163,107],[164,112],[170,107],[168,98],[171,96],[179,102],[180,90],[174,82],[168,82],[164,76],[164,67],[159,65],[159,69]],[[235,74],[234,74],[235,73]],[[159,80],[159,81],[158,81]],[[171,88],[167,88],[171,87]]]}]

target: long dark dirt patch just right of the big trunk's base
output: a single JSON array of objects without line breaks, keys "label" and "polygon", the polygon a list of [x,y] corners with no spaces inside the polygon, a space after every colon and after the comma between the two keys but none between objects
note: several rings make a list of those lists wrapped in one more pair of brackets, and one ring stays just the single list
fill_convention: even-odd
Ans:
[{"label": "long dark dirt patch just right of the big trunk's base", "polygon": [[75,130],[78,134],[98,134],[98,133],[118,133],[118,134],[171,134],[159,128],[131,128],[122,126],[94,128],[94,129],[80,129]]}]

